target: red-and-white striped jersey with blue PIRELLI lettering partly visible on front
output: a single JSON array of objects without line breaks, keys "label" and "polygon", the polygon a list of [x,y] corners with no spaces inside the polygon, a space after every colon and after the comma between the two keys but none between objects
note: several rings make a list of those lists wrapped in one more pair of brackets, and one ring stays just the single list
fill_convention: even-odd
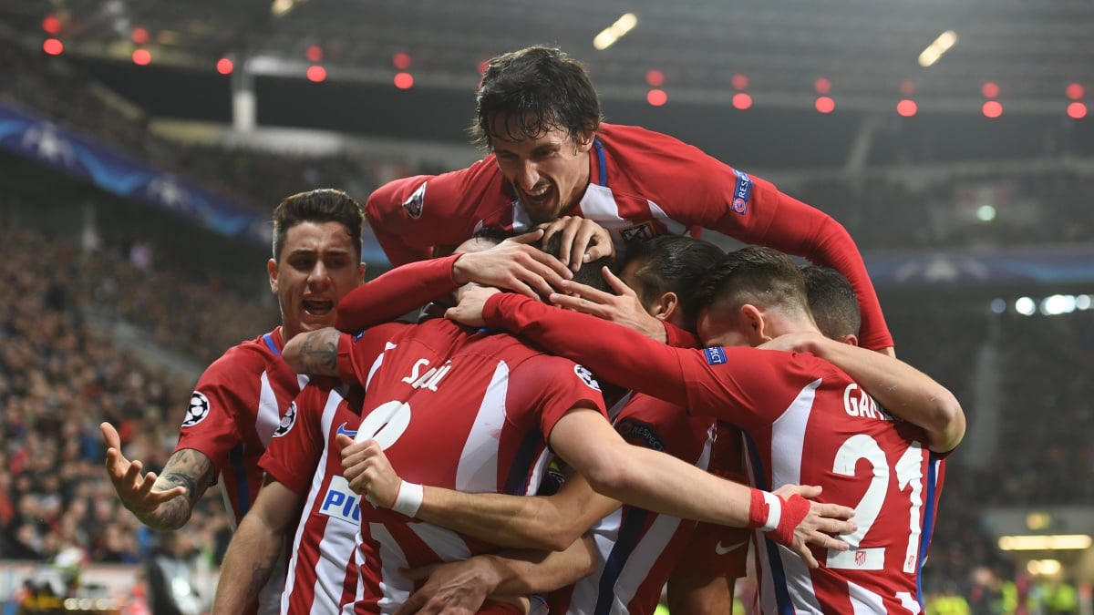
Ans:
[{"label": "red-and-white striped jersey with blue PIRELLI lettering partly visible on front", "polygon": [[[334,386],[333,386],[334,385]],[[342,476],[338,433],[357,433],[360,387],[316,379],[296,396],[263,455],[263,468],[304,499],[281,613],[337,613],[356,599],[352,566],[360,497]]]}]

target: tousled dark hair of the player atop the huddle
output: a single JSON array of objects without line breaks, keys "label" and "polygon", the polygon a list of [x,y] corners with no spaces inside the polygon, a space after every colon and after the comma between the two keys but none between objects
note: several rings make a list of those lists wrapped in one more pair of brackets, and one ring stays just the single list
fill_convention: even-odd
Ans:
[{"label": "tousled dark hair of the player atop the huddle", "polygon": [[[552,128],[578,142],[601,125],[601,102],[585,67],[556,47],[533,46],[492,58],[476,95],[473,142],[489,151],[497,137],[536,138]],[[502,120],[504,135],[494,134]],[[510,127],[516,120],[515,130]]]}]

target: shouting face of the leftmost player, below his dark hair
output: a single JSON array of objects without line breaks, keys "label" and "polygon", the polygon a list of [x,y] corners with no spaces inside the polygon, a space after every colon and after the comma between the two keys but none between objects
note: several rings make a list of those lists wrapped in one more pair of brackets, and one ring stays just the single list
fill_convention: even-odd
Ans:
[{"label": "shouting face of the leftmost player, below his dark hair", "polygon": [[334,326],[338,301],[364,276],[353,242],[338,222],[301,222],[289,229],[281,260],[271,258],[268,269],[286,340]]}]

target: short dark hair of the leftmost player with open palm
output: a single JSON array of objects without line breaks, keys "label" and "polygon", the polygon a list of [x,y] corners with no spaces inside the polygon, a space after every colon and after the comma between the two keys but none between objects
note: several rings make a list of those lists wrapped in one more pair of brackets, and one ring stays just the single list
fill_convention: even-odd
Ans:
[{"label": "short dark hair of the leftmost player with open palm", "polygon": [[301,222],[338,222],[346,228],[346,234],[357,248],[357,259],[361,259],[364,214],[361,205],[346,193],[318,188],[286,197],[278,204],[274,209],[274,260],[281,260],[289,229]]}]

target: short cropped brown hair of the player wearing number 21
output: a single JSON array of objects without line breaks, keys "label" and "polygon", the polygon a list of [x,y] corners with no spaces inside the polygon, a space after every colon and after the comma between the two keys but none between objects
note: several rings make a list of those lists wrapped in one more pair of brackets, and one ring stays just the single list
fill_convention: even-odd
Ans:
[{"label": "short cropped brown hair of the player wearing number 21", "polygon": [[753,303],[810,314],[801,267],[770,247],[733,251],[707,271],[693,295],[694,306],[699,311],[721,301],[733,309]]}]

